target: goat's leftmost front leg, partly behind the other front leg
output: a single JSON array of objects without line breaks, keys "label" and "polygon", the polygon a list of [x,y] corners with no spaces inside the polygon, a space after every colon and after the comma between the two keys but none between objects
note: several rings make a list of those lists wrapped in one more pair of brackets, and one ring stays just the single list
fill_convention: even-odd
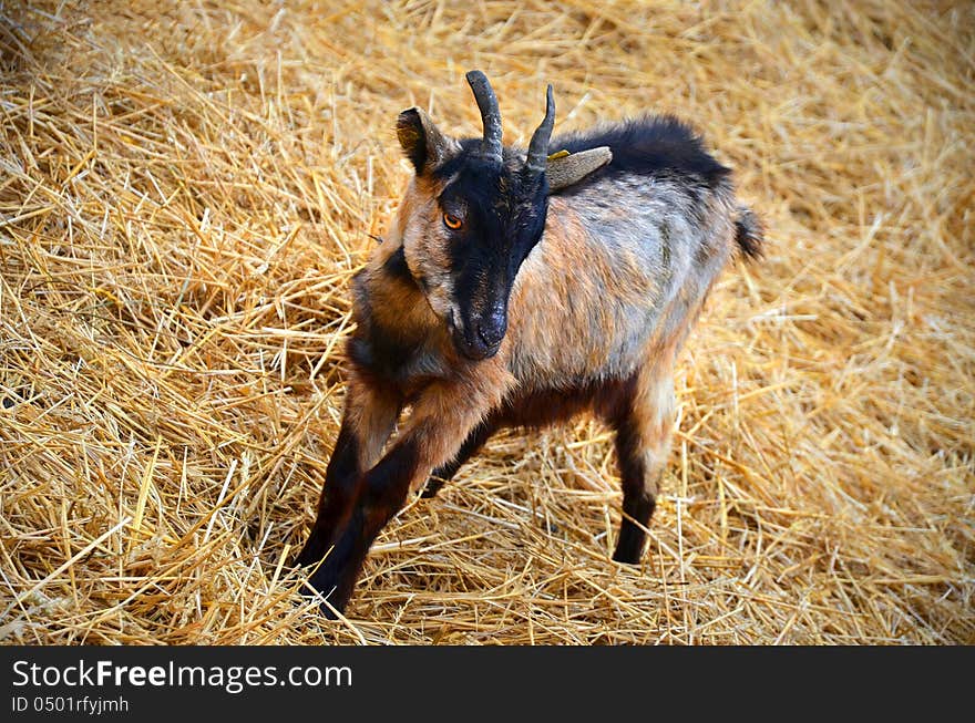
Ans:
[{"label": "goat's leftmost front leg, partly behind the other front leg", "polygon": [[372,466],[382,452],[400,407],[394,393],[365,384],[355,374],[349,379],[342,426],[325,473],[318,515],[298,555],[298,565],[316,565],[335,544],[352,514],[362,471]]}]

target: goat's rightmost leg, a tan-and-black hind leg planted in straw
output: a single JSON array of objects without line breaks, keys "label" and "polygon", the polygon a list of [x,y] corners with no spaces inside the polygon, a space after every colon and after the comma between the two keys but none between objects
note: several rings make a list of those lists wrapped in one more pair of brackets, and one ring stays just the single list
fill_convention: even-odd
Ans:
[{"label": "goat's rightmost leg, a tan-and-black hind leg planted in straw", "polygon": [[633,393],[612,420],[623,484],[623,521],[613,559],[639,562],[674,432],[674,381],[668,365],[638,372]]}]

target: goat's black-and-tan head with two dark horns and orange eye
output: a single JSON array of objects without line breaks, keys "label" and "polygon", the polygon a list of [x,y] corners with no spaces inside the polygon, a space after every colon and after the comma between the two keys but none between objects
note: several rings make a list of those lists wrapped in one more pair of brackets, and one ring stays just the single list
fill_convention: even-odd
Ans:
[{"label": "goat's black-and-tan head with two dark horns and orange eye", "polygon": [[466,74],[483,137],[441,133],[419,107],[400,113],[397,135],[417,172],[402,200],[407,266],[463,357],[494,355],[507,329],[515,275],[542,237],[548,194],[608,163],[606,147],[548,156],[555,101],[522,155],[501,143],[501,113],[481,71]]}]

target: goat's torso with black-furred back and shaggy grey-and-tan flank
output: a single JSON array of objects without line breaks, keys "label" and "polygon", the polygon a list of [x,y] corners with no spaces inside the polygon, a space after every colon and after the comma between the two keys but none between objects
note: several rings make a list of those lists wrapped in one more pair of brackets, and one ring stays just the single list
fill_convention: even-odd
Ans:
[{"label": "goat's torso with black-furred back and shaggy grey-and-tan flank", "polygon": [[556,138],[613,162],[553,195],[511,299],[509,366],[528,386],[625,379],[679,347],[726,265],[739,209],[730,172],[674,118]]}]

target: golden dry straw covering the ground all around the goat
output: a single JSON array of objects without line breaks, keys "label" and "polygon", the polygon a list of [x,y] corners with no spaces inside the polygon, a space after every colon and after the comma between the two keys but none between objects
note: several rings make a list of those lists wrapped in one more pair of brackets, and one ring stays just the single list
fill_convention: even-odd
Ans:
[{"label": "golden dry straw covering the ground all around the goat", "polygon": [[[971,3],[0,0],[0,640],[972,643]],[[692,120],[768,226],[681,355],[638,569],[612,440],[489,444],[297,592],[411,104]]]}]

